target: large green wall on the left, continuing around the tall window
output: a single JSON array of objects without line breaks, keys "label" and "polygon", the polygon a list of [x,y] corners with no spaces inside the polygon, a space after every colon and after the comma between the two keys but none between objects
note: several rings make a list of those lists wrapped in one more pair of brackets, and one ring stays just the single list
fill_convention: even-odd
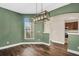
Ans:
[{"label": "large green wall on the left, continuing around the tall window", "polygon": [[[44,32],[44,23],[35,22],[35,39],[24,39],[24,18],[33,17],[33,14],[22,15],[4,8],[0,8],[0,47],[21,42],[45,42],[49,43],[49,34]],[[40,33],[38,33],[40,31]],[[40,40],[39,40],[40,39]],[[8,43],[9,42],[9,43]],[[7,44],[8,43],[8,44]]]}]

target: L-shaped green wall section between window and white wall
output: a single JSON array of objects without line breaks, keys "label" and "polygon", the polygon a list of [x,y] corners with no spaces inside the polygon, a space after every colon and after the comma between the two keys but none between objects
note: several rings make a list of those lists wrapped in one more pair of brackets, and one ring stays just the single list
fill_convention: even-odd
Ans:
[{"label": "L-shaped green wall section between window and white wall", "polygon": [[[44,33],[44,22],[43,21],[37,21],[35,24],[35,39],[40,42],[49,43],[49,34]],[[40,40],[39,40],[40,39]]]}]

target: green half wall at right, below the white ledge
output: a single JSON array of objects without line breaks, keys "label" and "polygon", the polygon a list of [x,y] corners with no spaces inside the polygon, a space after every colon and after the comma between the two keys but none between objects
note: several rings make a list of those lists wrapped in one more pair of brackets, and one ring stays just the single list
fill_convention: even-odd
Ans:
[{"label": "green half wall at right, below the white ledge", "polygon": [[79,35],[69,35],[68,39],[68,49],[79,51]]}]

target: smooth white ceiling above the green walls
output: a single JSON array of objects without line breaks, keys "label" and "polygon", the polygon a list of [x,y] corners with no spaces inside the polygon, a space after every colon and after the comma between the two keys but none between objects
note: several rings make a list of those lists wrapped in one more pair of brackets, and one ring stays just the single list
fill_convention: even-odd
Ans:
[{"label": "smooth white ceiling above the green walls", "polygon": [[[69,3],[42,3],[43,10],[51,11]],[[35,14],[36,3],[0,3],[0,7],[21,14]],[[41,3],[37,3],[37,13],[41,11]]]}]

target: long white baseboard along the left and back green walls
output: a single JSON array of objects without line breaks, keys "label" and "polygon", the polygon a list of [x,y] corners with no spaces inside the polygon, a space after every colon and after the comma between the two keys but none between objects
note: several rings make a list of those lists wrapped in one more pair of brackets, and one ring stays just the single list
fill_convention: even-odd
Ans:
[{"label": "long white baseboard along the left and back green walls", "polygon": [[45,44],[45,45],[50,45],[49,43],[44,43],[44,42],[22,42],[22,43],[17,43],[17,44],[12,44],[12,45],[8,45],[8,46],[4,46],[4,47],[0,47],[0,50],[2,49],[7,49],[10,47],[14,47],[14,46],[18,46],[18,45],[22,45],[22,44]]}]

